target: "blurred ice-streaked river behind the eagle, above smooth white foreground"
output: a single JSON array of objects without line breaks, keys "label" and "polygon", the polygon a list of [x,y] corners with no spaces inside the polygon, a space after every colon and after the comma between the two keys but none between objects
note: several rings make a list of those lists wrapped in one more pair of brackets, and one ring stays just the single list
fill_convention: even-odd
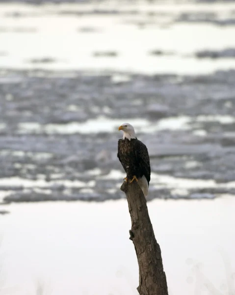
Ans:
[{"label": "blurred ice-streaked river behind the eagle, above smooth white foreground", "polygon": [[124,121],[150,199],[235,194],[233,2],[1,3],[0,19],[0,198],[122,198]]}]

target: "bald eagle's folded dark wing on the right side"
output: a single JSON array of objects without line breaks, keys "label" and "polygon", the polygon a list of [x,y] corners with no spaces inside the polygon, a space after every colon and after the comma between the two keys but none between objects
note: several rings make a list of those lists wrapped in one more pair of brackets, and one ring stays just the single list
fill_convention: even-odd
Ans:
[{"label": "bald eagle's folded dark wing on the right side", "polygon": [[148,148],[139,140],[135,142],[135,156],[149,184],[151,175],[149,152]]}]

